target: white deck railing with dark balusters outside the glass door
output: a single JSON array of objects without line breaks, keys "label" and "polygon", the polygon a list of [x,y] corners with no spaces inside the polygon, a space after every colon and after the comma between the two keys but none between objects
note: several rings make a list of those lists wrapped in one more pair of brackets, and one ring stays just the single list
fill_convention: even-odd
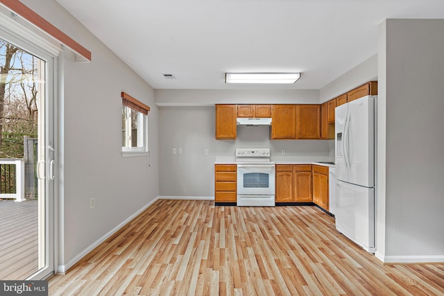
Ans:
[{"label": "white deck railing with dark balusters outside the glass door", "polygon": [[25,200],[24,159],[0,159],[0,198]]}]

